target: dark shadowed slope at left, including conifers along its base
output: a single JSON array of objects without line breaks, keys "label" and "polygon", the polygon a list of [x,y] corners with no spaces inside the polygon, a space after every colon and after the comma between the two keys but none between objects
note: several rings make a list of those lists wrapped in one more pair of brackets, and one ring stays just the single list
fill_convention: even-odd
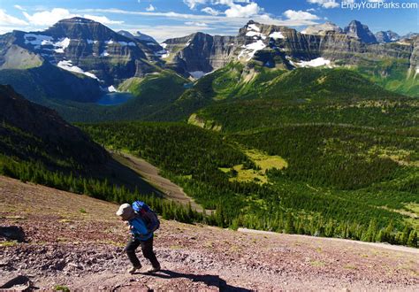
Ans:
[{"label": "dark shadowed slope at left, including conifers along its base", "polygon": [[[0,86],[0,120],[1,174],[108,199],[134,188],[159,193],[56,111],[27,101],[10,86]],[[117,197],[114,185],[125,188]]]}]

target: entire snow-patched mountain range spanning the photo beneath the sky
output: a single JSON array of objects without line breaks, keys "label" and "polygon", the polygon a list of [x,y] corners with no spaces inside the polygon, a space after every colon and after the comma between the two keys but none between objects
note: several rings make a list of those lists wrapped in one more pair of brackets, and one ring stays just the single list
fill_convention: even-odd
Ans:
[{"label": "entire snow-patched mountain range spanning the photo beneath the sky", "polygon": [[[348,68],[386,89],[417,96],[417,38],[368,43],[358,37],[369,35],[368,27],[358,21],[349,27],[349,35],[331,23],[301,34],[250,20],[235,36],[195,33],[158,44],[141,40],[141,35],[116,33],[93,20],[63,19],[44,32],[1,35],[0,82],[72,121],[159,119],[171,105],[178,106],[175,115],[188,115],[190,105],[196,108],[208,101],[201,82],[195,81],[223,68],[227,75],[218,72],[205,79],[223,76],[213,88],[224,88],[217,94],[221,99],[236,93],[262,95],[269,88],[255,80],[299,68]],[[129,91],[134,98],[106,108],[93,104],[109,88]],[[191,104],[182,105],[185,102]]]}]

